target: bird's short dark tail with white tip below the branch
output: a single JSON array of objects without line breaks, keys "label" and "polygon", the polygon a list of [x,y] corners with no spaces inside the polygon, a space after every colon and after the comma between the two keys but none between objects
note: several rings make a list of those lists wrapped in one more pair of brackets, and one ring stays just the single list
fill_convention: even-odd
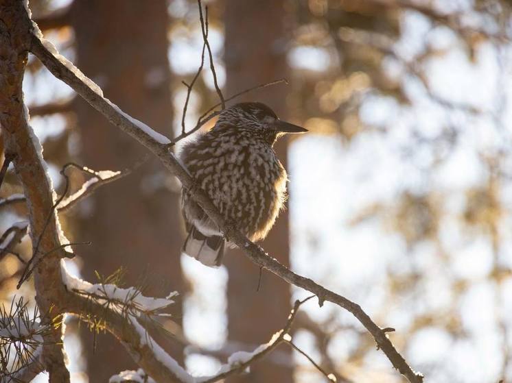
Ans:
[{"label": "bird's short dark tail with white tip below the branch", "polygon": [[219,267],[224,256],[224,238],[222,236],[205,236],[197,227],[191,225],[182,251],[206,266]]}]

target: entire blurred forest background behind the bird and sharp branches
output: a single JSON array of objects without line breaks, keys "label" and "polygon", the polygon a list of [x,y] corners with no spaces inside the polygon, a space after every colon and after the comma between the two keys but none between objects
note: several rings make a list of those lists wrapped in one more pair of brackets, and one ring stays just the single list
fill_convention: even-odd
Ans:
[{"label": "entire blurred forest background behind the bird and sharp branches", "polygon": [[[243,99],[268,103],[310,133],[281,140],[288,209],[264,248],[294,271],[358,302],[426,382],[512,381],[512,44],[509,0],[212,0],[209,40],[224,95],[286,77]],[[181,132],[200,64],[196,1],[31,0],[45,37],[108,99],[167,136]],[[187,127],[217,103],[208,65],[191,94]],[[32,125],[58,191],[69,161],[132,166],[140,145],[33,57],[24,82]],[[237,101],[242,101],[239,99]],[[207,128],[207,127],[206,127]],[[0,141],[1,142],[1,141]],[[73,173],[73,188],[86,178]],[[12,172],[0,197],[20,193]],[[96,282],[126,269],[148,295],[180,292],[174,336],[161,340],[191,373],[215,373],[233,351],[279,330],[306,297],[232,251],[208,269],[181,258],[180,185],[156,161],[98,190],[61,221],[73,273]],[[5,230],[26,214],[3,210]],[[16,248],[30,256],[27,238]],[[22,264],[0,262],[0,301]],[[109,334],[68,319],[72,381],[107,382],[135,369]],[[294,340],[339,382],[403,382],[351,314],[316,300]],[[279,347],[228,382],[323,382]],[[47,381],[41,374],[37,382]]]}]

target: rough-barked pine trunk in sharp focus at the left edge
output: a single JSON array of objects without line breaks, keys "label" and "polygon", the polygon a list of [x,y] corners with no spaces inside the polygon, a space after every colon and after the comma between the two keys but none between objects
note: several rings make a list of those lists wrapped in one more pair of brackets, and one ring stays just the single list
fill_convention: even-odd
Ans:
[{"label": "rough-barked pine trunk in sharp focus at the left edge", "polygon": [[[54,201],[49,179],[37,155],[40,151],[38,143],[30,137],[23,106],[21,84],[30,49],[31,29],[32,24],[21,1],[0,1],[0,125],[5,153],[14,155],[14,169],[27,197],[32,247],[38,248],[37,259],[56,249],[60,241],[56,234],[56,215],[51,212]],[[47,323],[58,315],[59,297],[65,294],[60,283],[59,256],[62,256],[62,251],[54,251],[34,270],[36,302]],[[43,365],[51,383],[69,382],[61,338],[62,326],[57,325],[44,339]]]}]

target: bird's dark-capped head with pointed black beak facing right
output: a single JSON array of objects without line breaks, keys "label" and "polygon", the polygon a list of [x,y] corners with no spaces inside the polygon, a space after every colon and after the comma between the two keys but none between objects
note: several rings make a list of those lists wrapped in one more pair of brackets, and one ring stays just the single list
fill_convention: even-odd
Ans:
[{"label": "bird's dark-capped head with pointed black beak facing right", "polygon": [[277,114],[260,102],[237,103],[222,110],[214,129],[237,129],[250,132],[273,144],[287,133],[304,133],[307,129],[281,121]]}]

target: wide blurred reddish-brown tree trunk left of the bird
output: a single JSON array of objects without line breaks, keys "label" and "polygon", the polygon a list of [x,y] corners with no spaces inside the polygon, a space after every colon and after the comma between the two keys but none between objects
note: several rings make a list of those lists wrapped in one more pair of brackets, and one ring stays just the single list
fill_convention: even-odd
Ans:
[{"label": "wide blurred reddish-brown tree trunk left of the bird", "polygon": [[[153,0],[149,5],[137,0],[75,0],[72,7],[80,69],[121,109],[171,134],[166,1]],[[145,152],[81,99],[75,111],[82,132],[82,161],[87,166],[124,169]],[[164,177],[159,165],[151,162],[87,201],[91,205],[80,223],[82,240],[93,243],[81,249],[87,280],[96,280],[95,270],[108,275],[125,267],[126,282],[137,284],[146,277],[150,295],[183,290],[178,199],[165,189]],[[181,318],[181,308],[173,310]],[[98,334],[93,352],[94,337],[88,330],[84,333],[90,382],[108,382],[113,373],[137,369],[111,336]],[[181,349],[170,348],[174,358],[183,360]]]}]

